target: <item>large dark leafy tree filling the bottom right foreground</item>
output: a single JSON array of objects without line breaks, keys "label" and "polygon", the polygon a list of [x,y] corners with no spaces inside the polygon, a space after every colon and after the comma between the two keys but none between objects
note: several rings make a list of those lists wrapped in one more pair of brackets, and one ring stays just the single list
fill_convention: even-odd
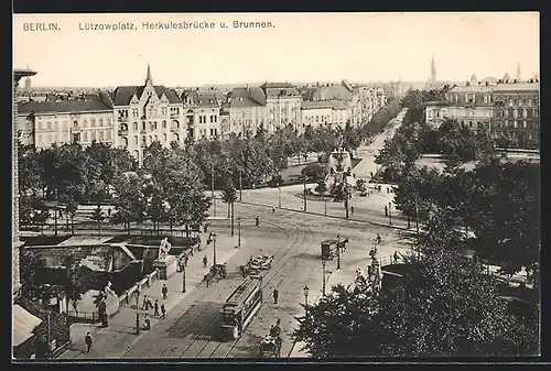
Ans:
[{"label": "large dark leafy tree filling the bottom right foreground", "polygon": [[447,245],[461,242],[442,227],[429,229],[437,231],[421,242],[430,253],[410,257],[393,285],[379,295],[333,287],[299,318],[293,338],[316,358],[534,353],[537,327],[508,312],[496,282],[458,253],[461,247]]}]

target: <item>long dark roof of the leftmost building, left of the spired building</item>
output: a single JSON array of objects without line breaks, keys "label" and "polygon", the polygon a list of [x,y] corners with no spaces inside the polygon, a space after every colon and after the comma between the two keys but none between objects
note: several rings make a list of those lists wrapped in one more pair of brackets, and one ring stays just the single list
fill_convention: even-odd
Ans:
[{"label": "long dark roof of the leftmost building, left of the spired building", "polygon": [[56,113],[56,112],[87,112],[112,111],[99,99],[94,100],[60,100],[60,101],[22,101],[18,105],[19,113]]}]

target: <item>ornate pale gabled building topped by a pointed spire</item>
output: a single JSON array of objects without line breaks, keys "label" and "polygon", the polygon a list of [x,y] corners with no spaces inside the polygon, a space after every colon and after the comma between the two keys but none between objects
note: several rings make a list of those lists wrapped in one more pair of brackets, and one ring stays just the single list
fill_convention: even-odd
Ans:
[{"label": "ornate pale gabled building topped by a pointed spire", "polygon": [[142,86],[119,86],[111,94],[117,135],[114,144],[127,149],[141,164],[143,150],[153,142],[183,144],[187,134],[184,107],[176,91],[153,85],[148,65]]}]

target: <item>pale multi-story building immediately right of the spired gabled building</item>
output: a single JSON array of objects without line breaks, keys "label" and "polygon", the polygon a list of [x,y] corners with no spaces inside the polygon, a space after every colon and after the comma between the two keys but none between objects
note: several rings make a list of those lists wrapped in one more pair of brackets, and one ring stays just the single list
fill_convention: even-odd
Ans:
[{"label": "pale multi-story building immediately right of the spired gabled building", "polygon": [[182,92],[187,134],[195,139],[215,139],[222,135],[219,98],[213,91],[184,90]]}]

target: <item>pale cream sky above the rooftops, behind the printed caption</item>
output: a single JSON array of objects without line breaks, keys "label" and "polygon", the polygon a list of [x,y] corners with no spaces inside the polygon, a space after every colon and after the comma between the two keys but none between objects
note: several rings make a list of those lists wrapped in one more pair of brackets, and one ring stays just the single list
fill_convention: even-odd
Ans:
[{"label": "pale cream sky above the rooftops, behind the printed caption", "polygon": [[[14,14],[14,67],[33,86],[258,81],[419,81],[434,57],[439,80],[539,73],[539,13]],[[237,22],[270,22],[259,29]],[[133,30],[82,30],[130,23]],[[148,30],[143,22],[214,22],[214,29]],[[220,28],[225,22],[227,28]],[[32,23],[57,30],[25,31]],[[204,23],[203,23],[204,24]],[[93,25],[94,26],[94,25]]]}]

